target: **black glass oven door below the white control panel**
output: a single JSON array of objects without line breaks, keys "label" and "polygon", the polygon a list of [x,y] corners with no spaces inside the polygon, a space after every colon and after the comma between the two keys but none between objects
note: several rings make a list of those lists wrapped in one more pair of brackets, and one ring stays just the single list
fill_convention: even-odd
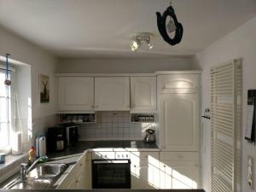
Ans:
[{"label": "black glass oven door below the white control panel", "polygon": [[131,189],[130,160],[92,160],[93,189]]}]

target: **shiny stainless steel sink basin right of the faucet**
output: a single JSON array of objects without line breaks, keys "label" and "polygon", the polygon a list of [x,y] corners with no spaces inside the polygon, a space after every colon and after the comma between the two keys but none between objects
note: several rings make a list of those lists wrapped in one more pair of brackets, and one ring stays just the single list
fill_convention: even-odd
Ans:
[{"label": "shiny stainless steel sink basin right of the faucet", "polygon": [[49,179],[61,175],[67,169],[65,164],[38,164],[30,172],[26,173],[27,178]]}]

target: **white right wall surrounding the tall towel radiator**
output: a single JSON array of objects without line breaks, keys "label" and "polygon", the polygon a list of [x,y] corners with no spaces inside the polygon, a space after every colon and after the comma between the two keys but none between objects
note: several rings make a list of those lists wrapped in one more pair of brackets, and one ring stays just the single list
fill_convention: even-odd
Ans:
[{"label": "white right wall surrounding the tall towel radiator", "polygon": [[[194,67],[201,68],[203,73],[201,75],[202,82],[202,110],[210,107],[210,68],[214,65],[221,64],[226,61],[230,61],[236,58],[242,58],[242,70],[243,70],[243,90],[242,90],[242,130],[243,137],[245,133],[245,127],[247,122],[247,90],[256,89],[256,17],[247,21],[246,24],[240,26],[235,31],[226,35],[224,38],[218,40],[218,42],[212,44],[207,49],[204,49],[195,56]],[[201,111],[203,113],[203,111]],[[210,130],[208,127],[206,141],[211,139]],[[208,143],[207,151],[211,148]],[[203,154],[202,163],[203,167],[203,185],[207,192],[209,191],[210,178],[210,153]],[[256,147],[253,144],[247,143],[244,139],[242,142],[242,190],[251,192],[247,188],[247,155],[250,154],[254,157],[254,176],[256,173]],[[205,179],[207,178],[207,179]],[[254,183],[256,177],[254,177]],[[256,186],[256,185],[255,185]]]}]

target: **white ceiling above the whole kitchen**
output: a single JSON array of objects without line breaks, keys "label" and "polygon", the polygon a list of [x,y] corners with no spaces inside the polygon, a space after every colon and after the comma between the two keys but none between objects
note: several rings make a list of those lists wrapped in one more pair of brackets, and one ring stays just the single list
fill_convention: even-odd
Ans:
[{"label": "white ceiling above the whole kitchen", "polygon": [[[172,0],[183,39],[160,37],[156,11],[169,0],[0,0],[0,26],[61,58],[195,55],[256,15],[255,0]],[[131,36],[152,32],[154,49],[131,52]]]}]

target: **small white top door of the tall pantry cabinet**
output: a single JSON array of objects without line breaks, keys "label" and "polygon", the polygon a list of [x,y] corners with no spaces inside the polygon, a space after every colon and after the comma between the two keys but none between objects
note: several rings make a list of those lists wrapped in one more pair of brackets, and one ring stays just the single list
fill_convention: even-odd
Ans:
[{"label": "small white top door of the tall pantry cabinet", "polygon": [[158,77],[159,93],[198,93],[200,74],[172,74]]}]

